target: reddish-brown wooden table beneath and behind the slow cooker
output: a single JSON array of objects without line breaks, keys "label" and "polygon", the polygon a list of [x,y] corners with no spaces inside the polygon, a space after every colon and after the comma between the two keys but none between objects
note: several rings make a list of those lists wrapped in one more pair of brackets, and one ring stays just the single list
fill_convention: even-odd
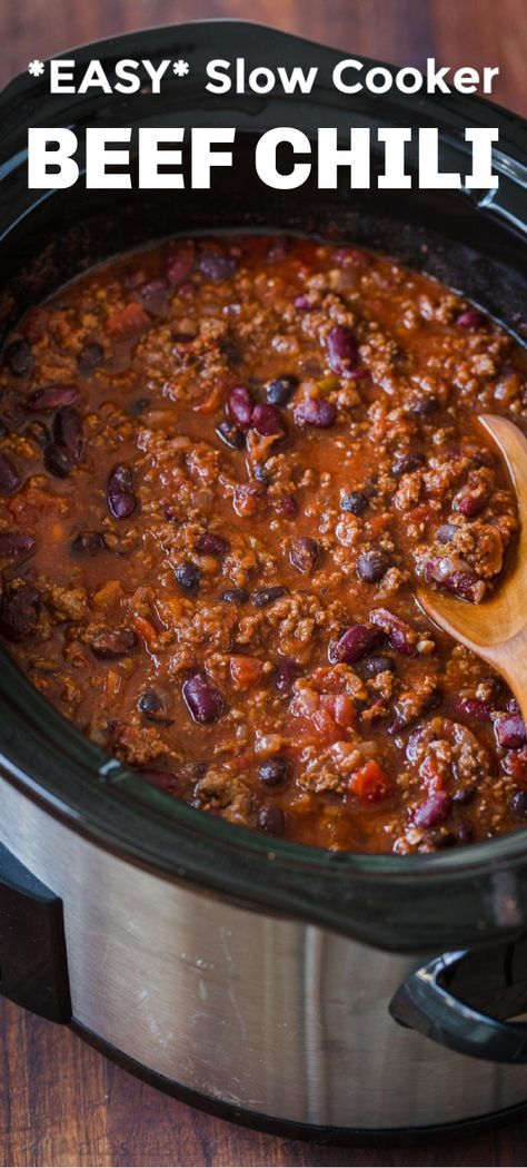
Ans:
[{"label": "reddish-brown wooden table beneath and behind the slow cooker", "polygon": [[[262,23],[401,64],[499,65],[496,99],[525,112],[522,0],[3,0],[0,83],[35,56],[114,33],[205,16]],[[69,1030],[0,1002],[0,1163],[508,1164],[526,1162],[527,1121],[449,1143],[373,1150],[260,1135],[132,1078]],[[430,1090],[433,1090],[430,1084]]]}]

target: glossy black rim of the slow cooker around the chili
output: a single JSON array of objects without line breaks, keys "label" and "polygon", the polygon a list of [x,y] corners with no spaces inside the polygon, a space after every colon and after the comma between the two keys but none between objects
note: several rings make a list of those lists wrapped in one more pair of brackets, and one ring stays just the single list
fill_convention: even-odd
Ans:
[{"label": "glossy black rim of the slow cooker around the chili", "polygon": [[[118,47],[131,49],[138,40],[146,55],[145,37],[152,41],[160,34],[198,36],[202,28],[215,25],[229,25],[241,35],[246,30],[264,39],[270,34],[282,46],[287,41],[321,54],[337,53],[265,25],[218,20],[124,34],[64,50],[61,56],[65,53],[80,53],[86,60],[96,53],[99,58],[108,53],[113,56]],[[363,56],[359,60],[372,65],[382,63]],[[389,64],[387,68],[396,69]],[[41,85],[35,88],[31,82],[31,103],[38,99],[38,89],[43,92]],[[0,104],[9,105],[12,98],[17,100],[21,90],[28,90],[23,75],[0,93]],[[398,92],[391,95],[393,99],[408,109],[407,97]],[[437,98],[417,97],[417,105],[423,102],[434,109],[443,107]],[[450,113],[463,119],[468,103],[471,109],[484,107],[484,121],[492,110],[507,126],[525,125],[519,114],[485,99],[457,93],[449,96]],[[515,153],[513,167],[518,161]],[[97,844],[167,878],[189,880],[241,904],[312,920],[385,948],[415,951],[465,945],[496,939],[497,933],[521,931],[522,911],[504,916],[504,897],[510,901],[517,896],[519,905],[521,901],[527,905],[526,829],[462,846],[455,851],[413,856],[333,853],[265,836],[148,786],[58,714],[3,649],[1,659],[0,773]],[[466,877],[462,911],[461,876]],[[500,890],[503,876],[507,880]],[[514,878],[513,885],[510,877]],[[445,912],[454,908],[458,919],[447,924]]]}]

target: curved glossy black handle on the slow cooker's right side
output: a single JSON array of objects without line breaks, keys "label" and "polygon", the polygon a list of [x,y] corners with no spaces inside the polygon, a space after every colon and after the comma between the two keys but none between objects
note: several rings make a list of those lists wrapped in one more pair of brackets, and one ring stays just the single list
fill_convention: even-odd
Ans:
[{"label": "curved glossy black handle on the slow cooker's right side", "polygon": [[466,957],[465,950],[443,953],[412,973],[389,1003],[392,1017],[462,1055],[493,1063],[527,1063],[526,1023],[480,1014],[447,988],[445,981]]}]

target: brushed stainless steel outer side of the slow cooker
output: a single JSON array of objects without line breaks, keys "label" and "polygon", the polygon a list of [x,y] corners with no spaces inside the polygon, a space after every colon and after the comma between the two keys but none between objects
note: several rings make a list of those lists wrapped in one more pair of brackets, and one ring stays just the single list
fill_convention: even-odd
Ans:
[{"label": "brushed stainless steel outer side of the slow cooker", "polygon": [[346,1139],[527,1099],[526,1065],[396,1026],[388,1007],[410,957],[164,880],[1,778],[0,806],[1,841],[62,899],[73,1021],[178,1090]]}]

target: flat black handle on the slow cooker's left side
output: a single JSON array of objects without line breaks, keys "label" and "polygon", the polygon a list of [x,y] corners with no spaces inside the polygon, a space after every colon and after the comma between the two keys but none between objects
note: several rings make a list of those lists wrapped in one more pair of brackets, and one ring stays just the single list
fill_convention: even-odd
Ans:
[{"label": "flat black handle on the slow cooker's left side", "polygon": [[0,993],[52,1022],[71,1018],[62,901],[2,843]]}]

